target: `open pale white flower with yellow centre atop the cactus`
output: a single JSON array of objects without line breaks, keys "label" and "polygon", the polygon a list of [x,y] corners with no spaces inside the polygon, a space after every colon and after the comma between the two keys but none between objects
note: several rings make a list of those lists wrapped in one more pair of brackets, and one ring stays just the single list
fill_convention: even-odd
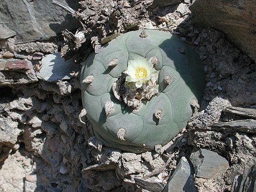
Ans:
[{"label": "open pale white flower with yellow centre atop the cactus", "polygon": [[126,81],[135,82],[135,86],[140,88],[142,84],[152,78],[157,73],[153,69],[150,60],[146,58],[137,58],[128,61],[128,68],[126,70]]}]

